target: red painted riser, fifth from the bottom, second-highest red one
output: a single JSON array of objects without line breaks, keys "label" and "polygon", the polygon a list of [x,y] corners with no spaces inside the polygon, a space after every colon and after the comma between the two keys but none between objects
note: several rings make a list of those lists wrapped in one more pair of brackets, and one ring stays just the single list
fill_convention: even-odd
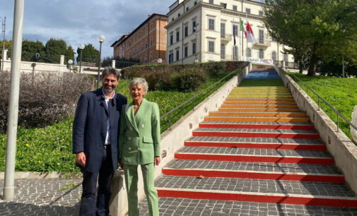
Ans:
[{"label": "red painted riser, fifth from the bottom, second-highest red one", "polygon": [[261,138],[295,138],[295,139],[319,139],[317,133],[249,133],[226,131],[193,131],[192,136],[220,136],[220,137],[261,137]]}]

